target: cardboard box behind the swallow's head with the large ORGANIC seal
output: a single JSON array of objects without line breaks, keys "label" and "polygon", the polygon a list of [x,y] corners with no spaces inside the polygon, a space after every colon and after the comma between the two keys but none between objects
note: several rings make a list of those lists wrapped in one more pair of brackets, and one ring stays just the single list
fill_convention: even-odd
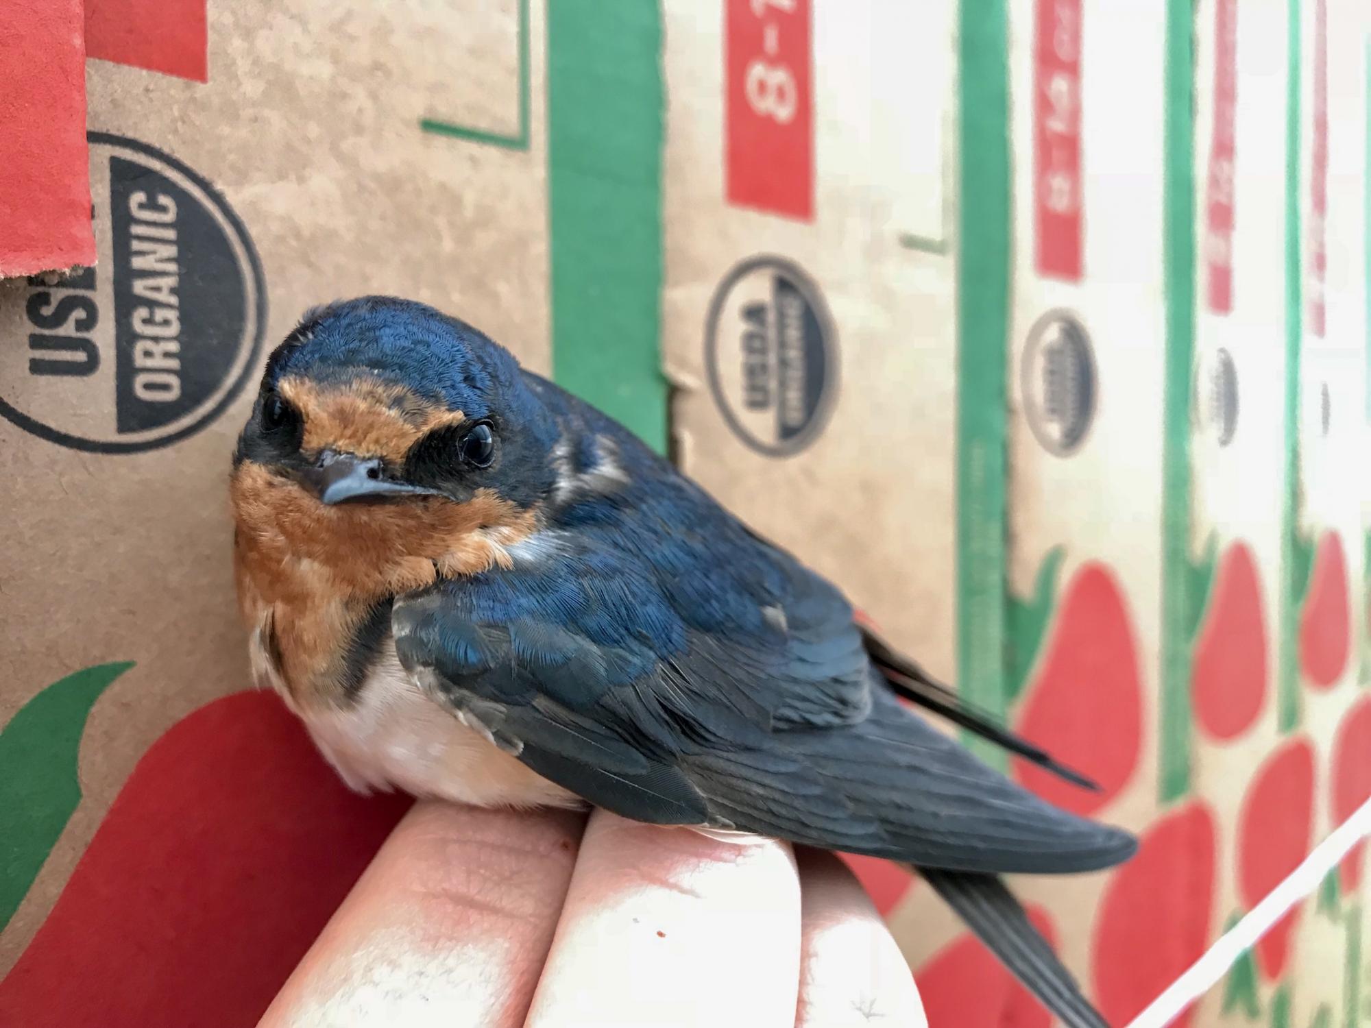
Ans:
[{"label": "cardboard box behind the swallow's head with the large ORGANIC seal", "polygon": [[239,695],[229,456],[307,307],[425,300],[665,439],[655,8],[204,11],[88,4],[99,260],[0,281],[4,1024],[255,1020],[398,816]]}]

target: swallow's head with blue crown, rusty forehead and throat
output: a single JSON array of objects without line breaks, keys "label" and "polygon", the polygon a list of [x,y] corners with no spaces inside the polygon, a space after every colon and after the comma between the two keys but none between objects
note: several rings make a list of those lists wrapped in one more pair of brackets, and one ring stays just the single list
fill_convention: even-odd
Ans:
[{"label": "swallow's head with blue crown, rusty forehead and throat", "polygon": [[553,485],[559,429],[537,388],[432,307],[369,296],[308,311],[239,439],[240,539],[330,566],[354,554],[462,570],[452,554],[533,530]]}]

